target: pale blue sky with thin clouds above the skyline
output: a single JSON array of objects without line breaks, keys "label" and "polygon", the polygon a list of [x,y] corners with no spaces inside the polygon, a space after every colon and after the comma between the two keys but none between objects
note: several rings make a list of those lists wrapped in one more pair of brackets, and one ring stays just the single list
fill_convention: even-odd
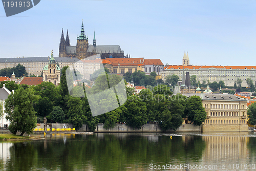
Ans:
[{"label": "pale blue sky with thin clouds above the skyline", "polygon": [[61,30],[76,46],[83,20],[93,44],[182,65],[256,65],[256,0],[41,0],[6,17],[0,5],[0,58],[58,57]]}]

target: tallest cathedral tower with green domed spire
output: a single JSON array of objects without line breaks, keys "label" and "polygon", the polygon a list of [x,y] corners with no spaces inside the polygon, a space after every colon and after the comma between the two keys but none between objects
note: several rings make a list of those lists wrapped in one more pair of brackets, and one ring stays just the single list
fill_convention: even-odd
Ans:
[{"label": "tallest cathedral tower with green domed spire", "polygon": [[88,37],[84,35],[83,22],[82,22],[81,33],[79,36],[77,36],[77,41],[76,41],[76,57],[78,59],[81,60],[86,58],[88,46],[89,46]]}]

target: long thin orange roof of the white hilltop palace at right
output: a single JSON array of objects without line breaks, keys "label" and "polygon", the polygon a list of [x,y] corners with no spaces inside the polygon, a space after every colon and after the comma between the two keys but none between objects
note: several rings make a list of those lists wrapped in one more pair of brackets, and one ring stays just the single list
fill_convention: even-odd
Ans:
[{"label": "long thin orange roof of the white hilltop palace at right", "polygon": [[240,70],[244,70],[244,69],[256,69],[256,66],[168,66],[165,69],[209,69],[209,68],[216,68],[216,69],[226,69],[229,70],[230,68],[232,70],[234,69],[240,69]]}]

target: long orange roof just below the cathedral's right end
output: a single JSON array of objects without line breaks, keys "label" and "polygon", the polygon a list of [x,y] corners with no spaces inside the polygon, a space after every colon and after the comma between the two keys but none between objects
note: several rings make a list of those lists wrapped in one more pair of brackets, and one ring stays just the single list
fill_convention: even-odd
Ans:
[{"label": "long orange roof just below the cathedral's right end", "polygon": [[144,58],[106,58],[106,60],[109,60],[111,64],[114,65],[131,65],[131,66],[137,66],[139,64],[143,64]]}]

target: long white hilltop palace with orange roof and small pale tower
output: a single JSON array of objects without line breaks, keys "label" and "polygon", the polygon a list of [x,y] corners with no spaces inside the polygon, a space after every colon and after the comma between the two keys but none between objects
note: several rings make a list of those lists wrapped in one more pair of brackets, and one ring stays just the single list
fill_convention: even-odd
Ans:
[{"label": "long white hilltop palace with orange roof and small pale tower", "polygon": [[[185,62],[185,63],[183,63]],[[178,75],[182,79],[183,69],[189,72],[189,75],[196,75],[197,81],[224,81],[225,86],[234,86],[234,81],[240,78],[242,87],[247,87],[246,79],[250,78],[256,81],[256,66],[193,66],[189,65],[188,54],[184,54],[182,65],[168,65],[161,72],[161,78],[165,80],[168,75]],[[197,86],[197,85],[192,85]]]}]

